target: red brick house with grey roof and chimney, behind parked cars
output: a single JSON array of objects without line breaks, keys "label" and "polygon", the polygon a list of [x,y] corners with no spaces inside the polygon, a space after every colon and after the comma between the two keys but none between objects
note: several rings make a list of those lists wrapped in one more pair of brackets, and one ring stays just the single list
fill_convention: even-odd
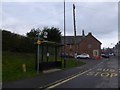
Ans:
[{"label": "red brick house with grey roof and chimney, behind parked cars", "polygon": [[[61,39],[61,43],[64,44],[64,37]],[[74,44],[74,36],[65,37],[65,53],[74,56],[75,53],[82,54],[87,53],[90,57],[100,56],[101,55],[101,42],[97,40],[92,33],[82,36],[76,36],[76,46]],[[64,50],[64,47],[63,49]]]}]

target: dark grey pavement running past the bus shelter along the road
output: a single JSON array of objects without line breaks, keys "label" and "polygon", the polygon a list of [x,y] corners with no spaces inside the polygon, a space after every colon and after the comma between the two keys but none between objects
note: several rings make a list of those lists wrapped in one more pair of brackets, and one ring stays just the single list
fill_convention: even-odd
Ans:
[{"label": "dark grey pavement running past the bus shelter along the road", "polygon": [[[74,67],[71,69],[64,69],[64,70],[50,70],[52,72],[46,71],[42,75],[33,77],[33,78],[26,78],[24,80],[13,81],[9,83],[2,83],[3,90],[8,88],[31,88],[33,90],[37,90],[39,88],[45,88],[53,83],[57,83],[59,81],[65,80],[68,77],[71,77],[77,73],[82,73],[92,67],[95,67],[103,60],[80,60],[86,62],[85,65],[80,67]],[[49,72],[49,73],[48,73]]]}]

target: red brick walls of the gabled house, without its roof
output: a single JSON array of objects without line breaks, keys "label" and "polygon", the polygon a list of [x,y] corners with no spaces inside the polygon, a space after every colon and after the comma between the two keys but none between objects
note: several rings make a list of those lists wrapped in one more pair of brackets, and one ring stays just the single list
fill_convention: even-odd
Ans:
[{"label": "red brick walls of the gabled house, without its roof", "polygon": [[65,45],[65,52],[70,56],[74,56],[75,52],[77,52],[78,54],[87,53],[90,57],[93,57],[93,50],[98,50],[98,56],[101,55],[101,43],[99,43],[91,33],[84,37],[76,47],[75,45]]}]

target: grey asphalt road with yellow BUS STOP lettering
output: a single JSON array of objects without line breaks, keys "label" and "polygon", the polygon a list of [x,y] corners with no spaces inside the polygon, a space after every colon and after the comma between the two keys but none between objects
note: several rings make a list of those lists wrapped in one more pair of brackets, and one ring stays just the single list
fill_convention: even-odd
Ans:
[{"label": "grey asphalt road with yellow BUS STOP lettering", "polygon": [[118,88],[118,73],[118,58],[110,57],[97,66],[48,88]]}]

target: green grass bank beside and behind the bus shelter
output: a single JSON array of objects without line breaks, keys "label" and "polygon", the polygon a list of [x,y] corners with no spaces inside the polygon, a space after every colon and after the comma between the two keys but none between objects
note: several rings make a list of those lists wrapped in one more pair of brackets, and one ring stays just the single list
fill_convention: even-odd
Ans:
[{"label": "green grass bank beside and behind the bus shelter", "polygon": [[[2,53],[2,80],[3,82],[14,81],[38,75],[35,70],[35,54],[33,53]],[[49,60],[51,60],[50,58]],[[61,60],[61,58],[58,58]],[[23,72],[22,64],[26,64],[26,72]],[[64,64],[64,63],[63,63]],[[73,59],[66,60],[66,68],[83,65]],[[63,67],[63,66],[62,66]],[[40,73],[42,74],[42,73]]]}]

